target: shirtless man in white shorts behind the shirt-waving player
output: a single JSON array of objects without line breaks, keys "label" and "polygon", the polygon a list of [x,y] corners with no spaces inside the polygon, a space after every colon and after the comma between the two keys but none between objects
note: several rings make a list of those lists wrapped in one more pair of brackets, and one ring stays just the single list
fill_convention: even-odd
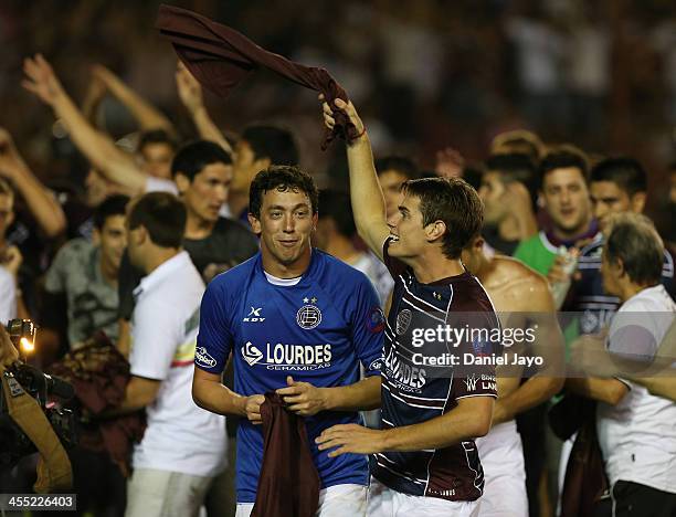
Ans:
[{"label": "shirtless man in white shorts behind the shirt-waving player", "polygon": [[[535,330],[535,341],[507,347],[507,362],[516,357],[542,358],[542,366],[530,371],[525,383],[522,365],[497,368],[498,399],[490,432],[478,439],[486,485],[480,517],[527,517],[526,472],[521,439],[515,416],[557,393],[563,383],[562,336],[556,319],[547,278],[524,263],[504,255],[488,256],[478,236],[463,251],[463,263],[483,284],[500,317],[503,329]],[[515,339],[516,340],[516,339]],[[508,351],[507,351],[508,350]]]}]

